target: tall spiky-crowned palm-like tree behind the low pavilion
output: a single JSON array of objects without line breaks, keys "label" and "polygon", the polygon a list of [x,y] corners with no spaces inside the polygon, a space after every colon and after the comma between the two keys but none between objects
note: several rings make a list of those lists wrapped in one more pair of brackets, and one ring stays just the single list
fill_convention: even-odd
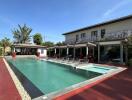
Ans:
[{"label": "tall spiky-crowned palm-like tree behind the low pavilion", "polygon": [[12,34],[16,43],[27,43],[30,42],[31,32],[32,29],[27,27],[26,24],[24,24],[23,26],[18,25],[18,29],[14,29],[12,31]]}]

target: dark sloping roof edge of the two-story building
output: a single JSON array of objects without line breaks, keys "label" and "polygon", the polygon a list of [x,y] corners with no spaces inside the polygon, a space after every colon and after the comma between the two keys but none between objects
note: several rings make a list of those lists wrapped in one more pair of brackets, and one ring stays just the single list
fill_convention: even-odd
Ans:
[{"label": "dark sloping roof edge of the two-story building", "polygon": [[84,27],[84,28],[80,28],[80,29],[77,29],[77,30],[73,30],[73,31],[70,31],[70,32],[66,32],[66,33],[63,33],[62,35],[67,35],[67,34],[71,34],[71,33],[74,33],[74,32],[83,31],[83,30],[86,30],[86,29],[91,29],[91,28],[95,28],[95,27],[99,27],[99,26],[103,26],[103,25],[107,25],[107,24],[111,24],[111,23],[116,23],[116,22],[127,20],[127,19],[132,19],[132,15],[120,17],[120,18],[113,19],[113,20],[110,20],[110,21],[106,21],[106,22],[95,24],[95,25],[87,26],[87,27]]}]

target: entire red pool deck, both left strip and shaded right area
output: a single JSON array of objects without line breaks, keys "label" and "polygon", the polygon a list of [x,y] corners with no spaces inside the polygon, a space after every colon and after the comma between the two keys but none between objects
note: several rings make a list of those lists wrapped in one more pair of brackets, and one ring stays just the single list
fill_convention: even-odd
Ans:
[{"label": "entire red pool deck, both left strip and shaded right area", "polygon": [[[56,100],[132,100],[132,68],[69,92]],[[0,58],[0,100],[21,100],[16,86]]]}]

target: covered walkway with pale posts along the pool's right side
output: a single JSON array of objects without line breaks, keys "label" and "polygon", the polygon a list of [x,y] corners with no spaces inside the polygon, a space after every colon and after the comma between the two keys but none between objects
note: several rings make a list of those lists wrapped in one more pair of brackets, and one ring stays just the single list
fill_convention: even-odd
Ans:
[{"label": "covered walkway with pale posts along the pool's right side", "polygon": [[[78,43],[74,45],[54,46],[48,48],[48,56],[55,58],[71,57],[74,60],[76,58],[88,58],[89,55],[94,57],[94,43]],[[92,54],[89,51],[92,50]]]}]

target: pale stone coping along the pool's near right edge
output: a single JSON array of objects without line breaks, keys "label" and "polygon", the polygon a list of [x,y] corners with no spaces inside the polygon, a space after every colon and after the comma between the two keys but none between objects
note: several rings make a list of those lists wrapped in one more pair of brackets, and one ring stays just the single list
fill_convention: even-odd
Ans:
[{"label": "pale stone coping along the pool's near right edge", "polygon": [[[53,62],[53,61],[51,61],[51,62]],[[61,63],[61,62],[53,62],[53,63],[64,64],[64,63]],[[67,64],[64,64],[64,65],[67,65]],[[101,64],[98,64],[98,65],[101,65]],[[71,67],[73,67],[73,66],[71,66]],[[94,83],[96,83],[99,80],[103,80],[103,79],[105,80],[105,79],[107,79],[109,77],[112,77],[112,76],[114,76],[114,75],[116,75],[116,74],[118,74],[118,73],[120,73],[120,72],[122,72],[122,71],[124,71],[126,69],[127,68],[118,67],[118,69],[115,70],[115,71],[110,71],[107,74],[102,74],[102,75],[94,77],[92,79],[89,79],[89,80],[74,84],[74,85],[69,86],[69,87],[66,87],[66,88],[64,88],[62,90],[51,92],[51,93],[48,93],[46,95],[34,98],[33,100],[52,100],[52,99],[55,99],[55,98],[57,98],[59,96],[65,95],[65,94],[67,94],[69,92],[72,92],[72,91],[75,91],[77,89],[83,88],[83,87],[85,87],[87,85],[94,84]]]}]

